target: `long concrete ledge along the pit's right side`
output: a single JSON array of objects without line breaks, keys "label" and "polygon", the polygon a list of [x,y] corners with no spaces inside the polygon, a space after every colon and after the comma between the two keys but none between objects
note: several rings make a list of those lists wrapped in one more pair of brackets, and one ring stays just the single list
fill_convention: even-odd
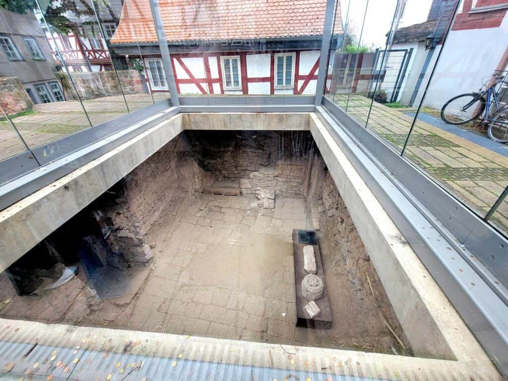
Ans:
[{"label": "long concrete ledge along the pit's right side", "polygon": [[415,251],[315,115],[311,116],[310,131],[415,355],[481,366],[484,375],[500,377]]}]

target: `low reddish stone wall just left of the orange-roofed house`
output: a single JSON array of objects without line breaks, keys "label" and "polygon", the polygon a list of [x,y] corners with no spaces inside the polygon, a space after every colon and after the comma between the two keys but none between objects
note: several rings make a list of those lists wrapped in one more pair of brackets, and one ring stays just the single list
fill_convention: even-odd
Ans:
[{"label": "low reddish stone wall just left of the orange-roofed house", "polygon": [[[72,72],[71,77],[76,86],[79,97],[83,100],[96,99],[107,96],[116,96],[121,94],[118,79],[121,84],[121,90],[124,94],[143,93],[141,77],[136,70],[118,70],[104,72]],[[58,79],[63,79],[63,90],[67,100],[77,99],[67,73],[57,73]]]}]

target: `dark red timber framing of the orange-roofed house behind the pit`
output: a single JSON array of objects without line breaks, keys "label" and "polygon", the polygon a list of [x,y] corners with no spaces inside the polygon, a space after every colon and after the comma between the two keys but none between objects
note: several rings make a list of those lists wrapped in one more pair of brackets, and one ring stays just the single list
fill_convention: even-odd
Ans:
[{"label": "dark red timber framing of the orange-roofed house behind the pit", "polygon": [[[269,52],[213,52],[213,53],[172,53],[171,54],[171,63],[173,66],[173,73],[176,76],[176,65],[175,62],[178,62],[178,65],[182,68],[188,78],[175,78],[176,89],[178,93],[181,93],[181,85],[182,84],[194,84],[196,85],[197,90],[201,94],[215,94],[217,93],[217,89],[213,89],[213,84],[217,83],[219,85],[220,94],[227,93],[227,90],[224,89],[223,84],[223,73],[222,67],[220,63],[220,57],[234,55],[240,57],[240,79],[241,79],[241,92],[243,94],[249,93],[249,83],[269,83],[270,84],[270,94],[275,94],[275,61],[274,54],[275,53],[293,53],[295,51],[269,51]],[[293,94],[303,94],[305,89],[307,88],[309,82],[311,80],[317,80],[317,69],[319,68],[319,58],[316,59],[314,65],[310,69],[308,74],[299,74],[300,72],[300,52],[296,51],[295,58],[295,80],[294,80],[294,88]],[[247,56],[251,54],[270,54],[270,76],[268,77],[247,77]],[[135,57],[134,55],[131,57]],[[161,58],[158,55],[143,55],[144,59],[147,58]],[[204,66],[204,78],[196,77],[195,74],[192,73],[190,68],[185,64],[185,58],[203,58],[203,66]],[[212,70],[210,67],[211,63],[209,58],[215,58],[216,70]],[[212,77],[212,71],[218,73],[218,78]],[[166,92],[167,90],[155,90],[151,88],[149,76],[147,73],[146,65],[145,65],[145,78],[148,82],[148,86],[151,92]],[[331,75],[328,76],[328,79],[331,79]],[[301,85],[299,86],[299,83]],[[237,90],[238,91],[238,90]],[[232,91],[232,93],[235,93]]]}]

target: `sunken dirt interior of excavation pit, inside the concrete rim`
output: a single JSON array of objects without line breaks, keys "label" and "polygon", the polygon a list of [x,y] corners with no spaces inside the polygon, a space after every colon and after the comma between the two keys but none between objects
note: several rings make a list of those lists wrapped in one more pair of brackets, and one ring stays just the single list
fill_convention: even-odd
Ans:
[{"label": "sunken dirt interior of excavation pit, inside the concrete rim", "polygon": [[[95,295],[76,260],[75,279],[37,296],[17,296],[4,275],[0,300],[11,301],[0,316],[411,354],[307,131],[183,132],[46,242],[79,259],[82,245],[62,232],[76,233],[92,215],[101,216],[130,291]],[[334,321],[328,330],[296,327],[293,229],[317,230]],[[142,263],[135,253],[146,245],[152,257]]]}]

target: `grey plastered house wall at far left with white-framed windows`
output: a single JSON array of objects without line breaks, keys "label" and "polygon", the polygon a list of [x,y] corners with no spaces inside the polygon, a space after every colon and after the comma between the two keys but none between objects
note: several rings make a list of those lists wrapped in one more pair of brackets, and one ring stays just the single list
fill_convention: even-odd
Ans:
[{"label": "grey plastered house wall at far left with white-framed windows", "polygon": [[[22,58],[16,61],[8,60],[4,50],[0,49],[0,77],[18,77],[21,83],[55,80],[55,61],[39,21],[33,13],[21,15],[0,9],[0,35],[11,38]],[[23,37],[34,37],[45,59],[32,59]]]}]

